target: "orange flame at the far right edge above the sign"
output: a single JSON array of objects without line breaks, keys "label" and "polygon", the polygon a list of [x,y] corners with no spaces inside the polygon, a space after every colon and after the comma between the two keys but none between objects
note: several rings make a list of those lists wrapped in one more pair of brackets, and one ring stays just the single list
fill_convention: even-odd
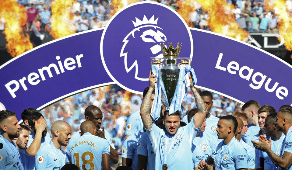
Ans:
[{"label": "orange flame at the far right edge above the sign", "polygon": [[292,50],[292,12],[286,7],[285,0],[265,0],[264,7],[266,11],[276,12],[279,26],[279,33],[281,36],[278,40],[281,41],[281,37],[284,39],[284,45],[287,50]]}]

